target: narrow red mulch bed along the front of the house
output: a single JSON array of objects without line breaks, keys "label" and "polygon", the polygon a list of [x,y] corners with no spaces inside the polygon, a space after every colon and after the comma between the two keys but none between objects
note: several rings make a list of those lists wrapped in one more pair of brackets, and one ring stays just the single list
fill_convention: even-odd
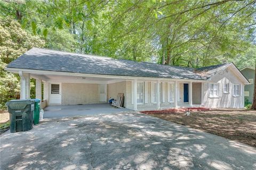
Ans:
[{"label": "narrow red mulch bed along the front of the house", "polygon": [[181,112],[204,112],[204,111],[210,111],[210,108],[206,107],[187,107],[187,108],[171,108],[171,109],[165,109],[162,111],[142,111],[141,113],[145,114],[170,114],[170,113],[181,113]]}]

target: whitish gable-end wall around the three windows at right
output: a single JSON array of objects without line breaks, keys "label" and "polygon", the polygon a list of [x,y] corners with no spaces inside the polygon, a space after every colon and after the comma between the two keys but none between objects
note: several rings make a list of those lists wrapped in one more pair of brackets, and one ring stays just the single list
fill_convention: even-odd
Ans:
[{"label": "whitish gable-end wall around the three windows at right", "polygon": [[[229,69],[223,70],[221,73],[214,75],[211,82],[220,84],[220,97],[209,97],[209,83],[204,83],[204,106],[213,108],[243,108],[243,95],[239,97],[233,96],[233,84],[241,84],[242,91],[244,85],[239,81],[238,77]],[[223,94],[223,84],[229,83],[229,94]],[[241,93],[243,94],[243,92]]]}]

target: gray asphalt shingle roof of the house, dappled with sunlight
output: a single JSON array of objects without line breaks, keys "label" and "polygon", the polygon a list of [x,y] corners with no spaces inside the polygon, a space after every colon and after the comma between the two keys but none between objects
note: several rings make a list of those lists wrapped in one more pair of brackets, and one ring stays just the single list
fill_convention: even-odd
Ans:
[{"label": "gray asphalt shingle roof of the house, dappled with sunlight", "polygon": [[133,77],[207,80],[227,64],[199,69],[32,48],[7,67]]}]

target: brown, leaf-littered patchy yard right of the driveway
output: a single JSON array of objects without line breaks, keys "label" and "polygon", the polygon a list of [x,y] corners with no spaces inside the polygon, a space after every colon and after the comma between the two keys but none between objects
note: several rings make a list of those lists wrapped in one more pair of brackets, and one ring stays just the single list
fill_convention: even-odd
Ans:
[{"label": "brown, leaf-littered patchy yard right of the driveway", "polygon": [[189,116],[159,111],[150,115],[256,147],[256,111],[226,109],[191,112]]}]

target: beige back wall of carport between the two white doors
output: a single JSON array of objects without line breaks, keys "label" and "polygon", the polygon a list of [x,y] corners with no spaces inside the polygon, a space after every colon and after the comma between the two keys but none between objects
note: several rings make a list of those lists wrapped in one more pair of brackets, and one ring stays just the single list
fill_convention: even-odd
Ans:
[{"label": "beige back wall of carport between the two white doors", "polygon": [[93,104],[99,103],[99,84],[62,83],[61,104]]}]

